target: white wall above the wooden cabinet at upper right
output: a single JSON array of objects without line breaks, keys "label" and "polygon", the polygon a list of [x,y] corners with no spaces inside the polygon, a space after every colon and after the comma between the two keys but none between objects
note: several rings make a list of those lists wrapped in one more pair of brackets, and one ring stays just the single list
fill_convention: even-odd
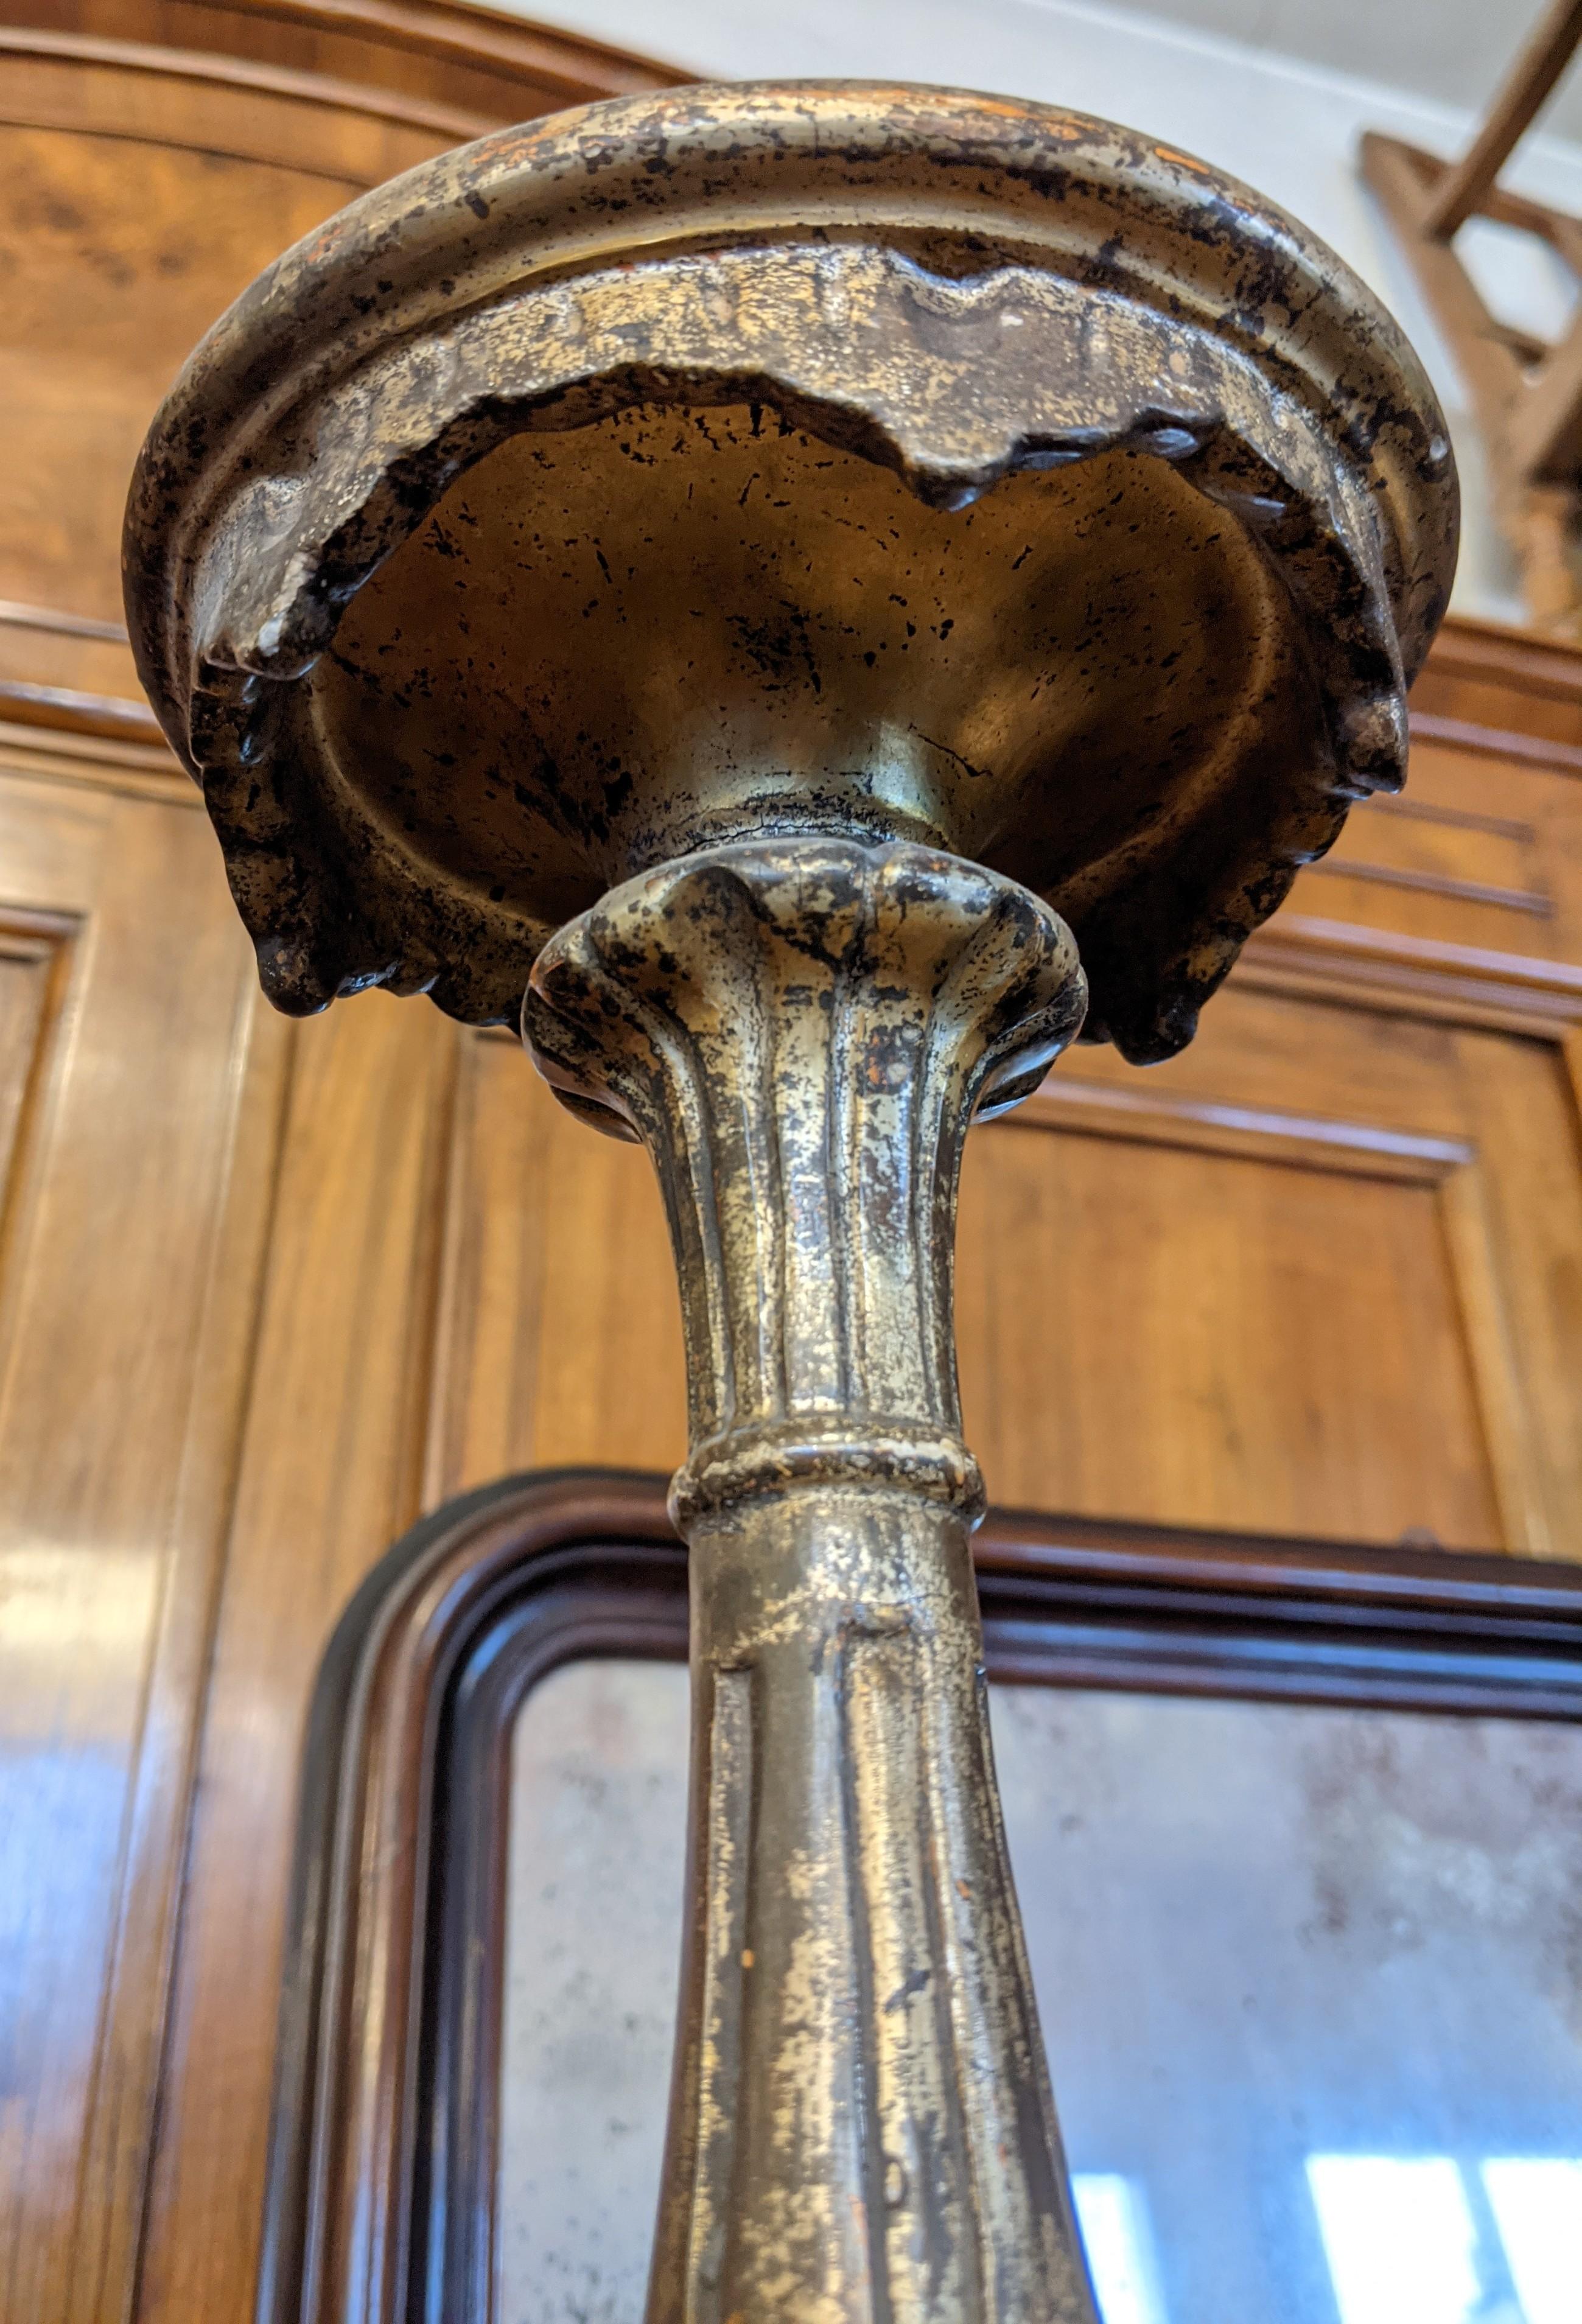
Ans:
[{"label": "white wall above the wooden cabinet at upper right", "polygon": [[[1387,12],[1392,0],[1375,5]],[[1491,621],[1522,618],[1461,383],[1354,160],[1364,128],[1459,153],[1468,114],[1096,0],[530,0],[525,14],[713,79],[850,74],[1041,98],[1124,121],[1247,179],[1324,235],[1417,342],[1466,493],[1454,602]],[[1361,0],[1359,26],[1368,14]],[[1512,21],[1512,44],[1519,30]],[[1582,146],[1531,137],[1510,184],[1582,211]],[[1533,253],[1496,228],[1473,235],[1510,318],[1552,328],[1563,300]]]}]

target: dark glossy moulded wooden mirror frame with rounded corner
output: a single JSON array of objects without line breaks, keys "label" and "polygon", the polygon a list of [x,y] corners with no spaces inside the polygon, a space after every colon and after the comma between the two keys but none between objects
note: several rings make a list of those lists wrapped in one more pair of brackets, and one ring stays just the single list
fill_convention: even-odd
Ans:
[{"label": "dark glossy moulded wooden mirror frame with rounded corner", "polygon": [[[990,1676],[1582,1720],[1582,1566],[992,1513]],[[551,1669],[685,1659],[664,1480],[506,1478],[369,1573],[309,1724],[258,2324],[483,2324],[509,1745]]]}]

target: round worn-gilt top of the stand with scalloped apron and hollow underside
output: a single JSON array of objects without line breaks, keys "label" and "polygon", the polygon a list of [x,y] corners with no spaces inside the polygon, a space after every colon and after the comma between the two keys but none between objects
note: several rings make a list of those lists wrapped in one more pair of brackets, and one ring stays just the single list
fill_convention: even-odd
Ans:
[{"label": "round worn-gilt top of the stand with scalloped apron and hollow underside", "polygon": [[286,1009],[509,1018],[606,885],[771,825],[1045,895],[1148,1060],[1398,786],[1454,532],[1394,323],[1189,156],[681,88],[281,258],[156,423],[128,604]]}]

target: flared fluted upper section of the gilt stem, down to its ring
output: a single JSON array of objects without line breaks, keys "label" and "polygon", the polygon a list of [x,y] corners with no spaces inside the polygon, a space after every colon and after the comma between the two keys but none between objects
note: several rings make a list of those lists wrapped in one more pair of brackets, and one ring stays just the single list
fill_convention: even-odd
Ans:
[{"label": "flared fluted upper section of the gilt stem, down to its ring", "polygon": [[664,1190],[683,1522],[839,1476],[980,1508],[955,1376],[962,1143],[1043,1078],[1083,1002],[1048,904],[906,841],[709,848],[544,948],[527,1046],[643,1139]]}]

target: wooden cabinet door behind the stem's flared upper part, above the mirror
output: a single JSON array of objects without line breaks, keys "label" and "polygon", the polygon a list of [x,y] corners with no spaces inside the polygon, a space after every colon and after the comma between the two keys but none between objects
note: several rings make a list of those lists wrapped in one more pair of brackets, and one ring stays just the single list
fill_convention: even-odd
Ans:
[{"label": "wooden cabinet door behind the stem's flared upper part, above the mirror", "polygon": [[[1582,1157],[1566,1043],[1241,976],[1150,1071],[1078,1048],[973,1129],[957,1325],[1004,1506],[1582,1545]],[[465,1037],[427,1492],[681,1457],[646,1157]],[[513,1195],[532,1188],[532,1199]]]}]

